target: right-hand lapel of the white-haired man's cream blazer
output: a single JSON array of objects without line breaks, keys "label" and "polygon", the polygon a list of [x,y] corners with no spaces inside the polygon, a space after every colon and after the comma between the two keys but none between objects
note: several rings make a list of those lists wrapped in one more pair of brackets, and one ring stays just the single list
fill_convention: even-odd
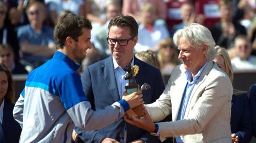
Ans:
[{"label": "right-hand lapel of the white-haired man's cream blazer", "polygon": [[189,111],[190,111],[190,108],[192,107],[191,106],[191,102],[192,100],[197,100],[198,98],[198,95],[199,94],[195,94],[195,93],[198,93],[198,91],[201,91],[201,88],[204,88],[204,86],[201,84],[204,82],[204,80],[206,79],[208,73],[211,71],[212,67],[213,67],[213,61],[209,61],[208,64],[206,65],[205,69],[203,70],[203,72],[201,73],[197,83],[195,84],[192,92],[191,92],[191,95],[190,95],[190,99],[189,99],[189,102],[188,102],[188,105],[187,105],[187,109],[186,109],[186,112],[185,112],[185,116],[188,116],[189,114]]}]

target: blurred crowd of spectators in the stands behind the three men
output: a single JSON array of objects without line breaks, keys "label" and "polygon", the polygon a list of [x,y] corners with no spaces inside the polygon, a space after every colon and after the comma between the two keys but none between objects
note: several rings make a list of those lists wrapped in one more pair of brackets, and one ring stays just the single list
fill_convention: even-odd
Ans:
[{"label": "blurred crowd of spectators in the stands behind the three men", "polygon": [[93,25],[87,58],[80,71],[110,55],[108,23],[129,14],[139,24],[134,52],[151,50],[159,69],[169,75],[180,64],[173,34],[197,22],[208,27],[216,45],[228,50],[234,70],[256,69],[255,0],[2,0],[0,1],[0,62],[13,74],[29,73],[56,50],[53,27],[57,15],[72,12]]}]

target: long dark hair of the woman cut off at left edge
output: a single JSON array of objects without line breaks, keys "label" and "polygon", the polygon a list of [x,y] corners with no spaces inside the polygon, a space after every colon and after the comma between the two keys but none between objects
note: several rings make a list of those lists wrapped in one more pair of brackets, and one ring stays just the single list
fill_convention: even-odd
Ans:
[{"label": "long dark hair of the woman cut off at left edge", "polygon": [[15,91],[14,91],[14,81],[12,77],[12,73],[5,64],[0,63],[0,71],[4,71],[7,74],[7,80],[8,80],[8,89],[5,95],[5,100],[9,103],[14,103],[15,98]]}]

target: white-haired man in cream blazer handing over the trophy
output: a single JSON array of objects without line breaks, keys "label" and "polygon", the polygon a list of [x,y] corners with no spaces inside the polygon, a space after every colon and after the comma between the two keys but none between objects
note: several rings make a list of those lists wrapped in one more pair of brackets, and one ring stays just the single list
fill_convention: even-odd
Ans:
[{"label": "white-haired man in cream blazer handing over the trophy", "polygon": [[[231,142],[232,84],[211,59],[215,42],[211,32],[197,23],[186,25],[174,35],[183,64],[176,66],[163,93],[145,105],[143,119],[126,121],[158,135],[163,141]],[[158,122],[171,114],[173,121]]]}]

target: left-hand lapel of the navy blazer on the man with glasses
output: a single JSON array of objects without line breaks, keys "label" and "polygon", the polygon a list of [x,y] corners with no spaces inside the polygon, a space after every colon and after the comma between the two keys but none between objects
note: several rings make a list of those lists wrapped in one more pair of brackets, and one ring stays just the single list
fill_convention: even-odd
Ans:
[{"label": "left-hand lapel of the navy blazer on the man with glasses", "polygon": [[118,101],[120,100],[118,87],[116,83],[115,71],[114,71],[114,64],[112,55],[107,58],[103,65],[103,76],[108,85],[108,89],[112,94],[113,98]]}]

